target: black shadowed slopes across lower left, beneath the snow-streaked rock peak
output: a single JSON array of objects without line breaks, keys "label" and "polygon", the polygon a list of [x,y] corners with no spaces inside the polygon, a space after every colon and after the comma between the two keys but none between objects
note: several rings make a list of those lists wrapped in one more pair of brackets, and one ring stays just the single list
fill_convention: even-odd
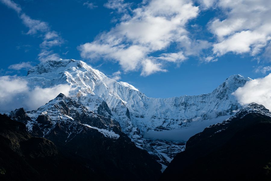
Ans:
[{"label": "black shadowed slopes across lower left, beneath the snow-streaked rock peak", "polygon": [[160,176],[160,164],[130,140],[104,140],[88,129],[69,144],[56,146],[0,114],[0,145],[1,180],[152,180]]}]

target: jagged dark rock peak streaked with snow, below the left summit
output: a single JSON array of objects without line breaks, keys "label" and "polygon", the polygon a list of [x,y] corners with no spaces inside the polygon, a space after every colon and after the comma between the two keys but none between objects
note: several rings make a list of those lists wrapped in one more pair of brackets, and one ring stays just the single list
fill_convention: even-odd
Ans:
[{"label": "jagged dark rock peak streaked with snow, below the left summit", "polygon": [[[108,108],[104,102],[104,107]],[[50,138],[58,142],[68,142],[83,129],[96,129],[103,135],[123,134],[120,125],[114,120],[90,112],[77,101],[59,94],[37,110],[24,112],[18,109],[10,113],[10,117],[26,124],[33,135]],[[22,119],[21,114],[25,119]],[[38,133],[37,133],[38,132]],[[57,138],[55,140],[53,138]],[[63,139],[60,139],[63,138]]]}]

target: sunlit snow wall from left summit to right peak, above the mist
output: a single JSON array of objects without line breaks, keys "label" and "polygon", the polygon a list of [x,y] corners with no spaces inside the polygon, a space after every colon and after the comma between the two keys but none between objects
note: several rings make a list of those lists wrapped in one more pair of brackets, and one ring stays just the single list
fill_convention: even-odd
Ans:
[{"label": "sunlit snow wall from left summit to right peak, above the mist", "polygon": [[97,112],[104,100],[126,133],[132,132],[133,127],[144,133],[182,128],[192,121],[231,115],[241,107],[231,93],[251,80],[232,75],[209,94],[149,98],[132,85],[114,81],[86,63],[72,59],[42,62],[30,69],[26,79],[33,86],[40,82],[42,87],[70,84],[74,87],[70,95],[92,111]]}]

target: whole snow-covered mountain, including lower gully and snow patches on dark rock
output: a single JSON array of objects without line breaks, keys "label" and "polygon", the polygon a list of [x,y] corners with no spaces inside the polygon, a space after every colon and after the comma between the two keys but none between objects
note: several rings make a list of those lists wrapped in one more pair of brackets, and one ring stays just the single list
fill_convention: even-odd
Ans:
[{"label": "whole snow-covered mountain, including lower gully and snow patches on dark rock", "polygon": [[[108,129],[111,122],[118,122],[122,131],[129,135],[139,148],[146,149],[160,163],[166,165],[184,148],[184,144],[163,140],[150,141],[144,139],[142,135],[148,131],[170,129],[180,129],[181,131],[191,122],[225,115],[230,117],[235,110],[242,107],[231,93],[251,80],[240,75],[232,75],[212,93],[160,99],[147,97],[132,85],[117,82],[91,68],[85,62],[73,59],[41,62],[31,68],[27,76],[23,78],[28,82],[29,87],[47,88],[60,84],[70,85],[70,98],[67,98],[68,101],[64,101],[64,104],[69,102],[73,102],[74,105],[78,104],[79,107],[76,107],[78,114],[101,115],[108,118],[108,122],[101,127],[86,122],[82,122],[82,124],[90,126],[90,128],[96,127],[97,130],[111,131]],[[69,113],[63,112],[63,109],[59,108],[61,106],[59,99],[57,97],[27,115],[31,120],[46,115],[51,125],[58,124],[56,120],[69,120],[69,124],[73,124],[73,118],[69,117]],[[45,117],[43,116],[42,119],[47,120]],[[116,126],[116,124],[114,125]],[[33,123],[28,122],[27,126],[30,131],[33,130]],[[50,132],[48,128],[41,129],[43,135]],[[69,131],[67,132],[70,134]],[[115,134],[118,133],[115,132]],[[172,149],[165,149],[167,147]]]}]

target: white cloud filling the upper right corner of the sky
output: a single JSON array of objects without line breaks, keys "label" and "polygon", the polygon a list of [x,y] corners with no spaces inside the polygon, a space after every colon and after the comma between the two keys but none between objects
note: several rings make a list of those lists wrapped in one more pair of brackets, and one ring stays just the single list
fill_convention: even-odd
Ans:
[{"label": "white cloud filling the upper right corner of the sky", "polygon": [[233,52],[256,56],[271,40],[271,1],[219,0],[216,6],[224,16],[215,17],[209,23],[210,31],[217,37],[213,45],[215,54]]}]

